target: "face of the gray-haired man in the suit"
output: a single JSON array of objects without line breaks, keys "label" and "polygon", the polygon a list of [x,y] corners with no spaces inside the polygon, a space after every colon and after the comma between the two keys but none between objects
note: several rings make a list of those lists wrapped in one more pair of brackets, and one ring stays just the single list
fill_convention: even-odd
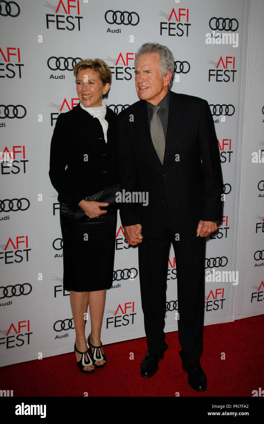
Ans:
[{"label": "face of the gray-haired man in the suit", "polygon": [[156,106],[167,94],[172,73],[161,76],[159,53],[144,53],[136,62],[135,81],[139,98]]}]

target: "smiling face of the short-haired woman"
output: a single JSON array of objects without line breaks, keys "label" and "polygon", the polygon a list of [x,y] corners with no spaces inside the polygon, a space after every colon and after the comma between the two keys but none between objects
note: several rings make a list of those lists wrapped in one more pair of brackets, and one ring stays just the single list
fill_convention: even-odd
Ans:
[{"label": "smiling face of the short-haired woman", "polygon": [[81,69],[76,81],[78,98],[84,107],[102,106],[103,95],[108,92],[110,84],[103,85],[98,73],[92,69]]}]

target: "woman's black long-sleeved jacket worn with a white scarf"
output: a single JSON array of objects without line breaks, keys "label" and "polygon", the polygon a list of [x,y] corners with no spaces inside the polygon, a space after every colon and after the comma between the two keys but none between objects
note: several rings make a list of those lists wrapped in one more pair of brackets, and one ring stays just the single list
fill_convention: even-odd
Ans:
[{"label": "woman's black long-sleeved jacket worn with a white scarf", "polygon": [[72,212],[85,197],[117,184],[117,115],[107,108],[107,143],[97,118],[80,103],[58,116],[50,146],[50,181]]}]

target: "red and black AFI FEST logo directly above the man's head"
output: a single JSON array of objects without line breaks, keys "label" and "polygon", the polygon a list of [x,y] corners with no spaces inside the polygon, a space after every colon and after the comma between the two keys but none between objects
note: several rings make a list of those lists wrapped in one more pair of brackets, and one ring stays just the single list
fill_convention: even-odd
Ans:
[{"label": "red and black AFI FEST logo directly above the man's head", "polygon": [[167,19],[167,22],[160,22],[160,35],[168,36],[189,36],[189,9],[175,8],[170,12],[170,16],[161,12],[161,16]]}]

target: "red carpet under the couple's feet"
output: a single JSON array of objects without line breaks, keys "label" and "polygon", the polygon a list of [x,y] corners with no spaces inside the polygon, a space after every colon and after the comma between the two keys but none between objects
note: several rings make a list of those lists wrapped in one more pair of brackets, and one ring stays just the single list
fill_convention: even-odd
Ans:
[{"label": "red carpet under the couple's feet", "polygon": [[[139,368],[147,352],[146,339],[105,346],[107,364],[94,374],[82,374],[75,354],[69,353],[1,368],[1,390],[13,396],[249,396],[264,389],[264,315],[204,328],[201,365],[208,389],[198,393],[189,387],[181,368],[178,332],[167,333],[169,348],[159,362],[158,373],[140,377]],[[130,360],[131,352],[134,359]],[[225,360],[221,359],[222,352]],[[223,356],[223,355],[222,355]],[[264,393],[264,392],[263,392]],[[36,402],[36,401],[35,401]]]}]

